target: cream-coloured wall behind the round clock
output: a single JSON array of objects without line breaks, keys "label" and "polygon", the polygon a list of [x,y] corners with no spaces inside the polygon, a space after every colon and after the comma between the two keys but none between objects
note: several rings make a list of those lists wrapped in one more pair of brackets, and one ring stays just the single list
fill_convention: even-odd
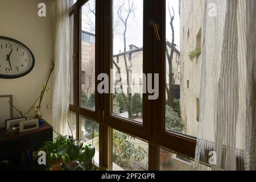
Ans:
[{"label": "cream-coloured wall behind the round clock", "polygon": [[[38,4],[46,3],[47,16],[39,18]],[[0,95],[13,95],[14,104],[26,113],[40,94],[47,80],[51,59],[54,59],[54,7],[53,0],[1,0],[0,36],[7,36],[25,44],[35,56],[35,67],[28,75],[5,80],[0,78]],[[49,92],[42,103],[43,119],[51,123],[52,79]],[[1,112],[1,111],[0,111]],[[15,111],[14,116],[18,113]]]}]

